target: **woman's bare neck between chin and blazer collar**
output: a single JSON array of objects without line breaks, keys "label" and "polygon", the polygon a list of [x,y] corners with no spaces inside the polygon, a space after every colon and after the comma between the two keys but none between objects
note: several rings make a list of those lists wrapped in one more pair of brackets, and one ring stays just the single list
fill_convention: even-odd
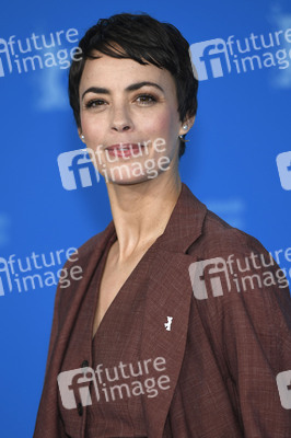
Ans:
[{"label": "woman's bare neck between chin and blazer collar", "polygon": [[164,232],[182,183],[179,175],[162,176],[139,184],[107,184],[120,262],[149,247]]}]

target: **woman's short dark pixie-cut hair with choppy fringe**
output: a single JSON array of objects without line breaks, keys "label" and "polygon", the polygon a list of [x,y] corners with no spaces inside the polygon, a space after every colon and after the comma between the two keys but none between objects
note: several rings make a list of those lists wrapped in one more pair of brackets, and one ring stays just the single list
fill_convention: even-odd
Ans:
[{"label": "woman's short dark pixie-cut hair with choppy fringe", "polygon": [[[170,23],[140,13],[121,13],[100,19],[79,43],[82,53],[69,72],[69,99],[78,128],[81,128],[79,85],[86,59],[97,59],[93,50],[113,58],[133,59],[168,70],[176,84],[181,122],[197,112],[198,81],[194,77],[189,44]],[[185,135],[179,138],[179,157],[185,152]]]}]

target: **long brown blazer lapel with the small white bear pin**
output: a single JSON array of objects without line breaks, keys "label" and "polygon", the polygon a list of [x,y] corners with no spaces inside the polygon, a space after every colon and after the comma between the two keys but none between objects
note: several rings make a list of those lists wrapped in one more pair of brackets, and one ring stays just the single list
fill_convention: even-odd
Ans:
[{"label": "long brown blazer lapel with the small white bear pin", "polygon": [[[183,362],[193,296],[188,268],[190,263],[197,261],[197,257],[186,254],[186,251],[201,234],[206,211],[206,207],[183,184],[167,227],[155,242],[151,254],[141,358],[165,359],[165,370],[161,376],[170,378],[170,388],[156,388],[156,397],[143,399],[150,438],[163,436]],[[164,325],[167,316],[173,318],[171,331]]]}]

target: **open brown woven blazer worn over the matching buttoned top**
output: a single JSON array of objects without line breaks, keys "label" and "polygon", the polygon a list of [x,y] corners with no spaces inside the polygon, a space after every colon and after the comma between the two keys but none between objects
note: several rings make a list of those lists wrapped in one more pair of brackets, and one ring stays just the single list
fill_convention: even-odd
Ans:
[{"label": "open brown woven blazer worn over the matching buttoned top", "polygon": [[[67,262],[67,267],[81,266],[83,278],[57,289],[34,438],[68,437],[58,411],[57,376],[78,309],[114,233],[110,222],[80,247],[77,262]],[[276,380],[291,369],[289,288],[282,280],[275,284],[276,264],[243,272],[252,254],[255,266],[260,254],[267,265],[266,250],[207,210],[183,184],[167,227],[150,251],[148,281],[141,285],[147,296],[141,357],[166,359],[171,388],[142,400],[148,437],[290,438],[288,387],[279,391]],[[234,260],[242,272],[234,269]],[[223,269],[216,274],[218,262],[228,266],[226,275]],[[244,283],[238,280],[243,275],[248,276]],[[171,331],[166,316],[173,318]],[[91,341],[80,339],[80,362],[92,359]],[[75,437],[85,438],[85,413],[84,407]]]}]

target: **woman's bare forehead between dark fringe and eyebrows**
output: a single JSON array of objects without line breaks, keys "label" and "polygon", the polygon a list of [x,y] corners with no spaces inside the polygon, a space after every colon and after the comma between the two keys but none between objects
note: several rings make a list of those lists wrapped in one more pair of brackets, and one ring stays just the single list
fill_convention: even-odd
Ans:
[{"label": "woman's bare forehead between dark fringe and eyebrows", "polygon": [[165,92],[175,91],[175,81],[170,71],[159,67],[141,65],[133,59],[113,58],[93,51],[98,59],[88,59],[80,82],[80,93],[90,85],[109,89],[126,89],[133,82],[151,81],[160,84]]}]

